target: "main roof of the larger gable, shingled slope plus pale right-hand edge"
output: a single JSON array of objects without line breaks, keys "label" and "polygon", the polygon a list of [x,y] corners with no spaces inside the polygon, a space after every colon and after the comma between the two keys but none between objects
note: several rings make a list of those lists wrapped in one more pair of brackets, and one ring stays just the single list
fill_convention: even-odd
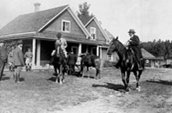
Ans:
[{"label": "main roof of the larger gable, shingled slope plus pale right-hand edge", "polygon": [[53,9],[20,15],[0,30],[0,37],[20,35],[23,33],[36,34],[36,32],[41,32],[66,10],[69,11],[85,35],[89,36],[88,31],[85,29],[84,25],[77,18],[77,16],[75,16],[70,7],[68,5],[64,5]]}]

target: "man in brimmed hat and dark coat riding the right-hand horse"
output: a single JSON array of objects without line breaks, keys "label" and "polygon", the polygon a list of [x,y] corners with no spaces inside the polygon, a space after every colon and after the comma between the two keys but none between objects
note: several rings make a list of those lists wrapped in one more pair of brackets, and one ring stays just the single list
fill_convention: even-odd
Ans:
[{"label": "man in brimmed hat and dark coat riding the right-hand horse", "polygon": [[138,67],[141,70],[143,67],[141,66],[141,59],[143,58],[141,48],[140,48],[140,39],[137,35],[135,35],[135,30],[129,30],[130,40],[128,41],[128,46],[131,48],[136,56],[136,61],[138,62]]}]

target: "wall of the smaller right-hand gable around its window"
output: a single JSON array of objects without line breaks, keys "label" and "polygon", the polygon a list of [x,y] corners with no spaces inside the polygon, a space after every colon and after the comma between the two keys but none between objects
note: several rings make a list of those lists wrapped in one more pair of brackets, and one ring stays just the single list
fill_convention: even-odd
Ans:
[{"label": "wall of the smaller right-hand gable around its window", "polygon": [[103,33],[101,32],[101,30],[99,29],[98,25],[94,20],[86,26],[86,29],[88,30],[89,33],[90,33],[90,27],[96,28],[96,37],[98,41],[105,41],[105,37],[103,36]]}]

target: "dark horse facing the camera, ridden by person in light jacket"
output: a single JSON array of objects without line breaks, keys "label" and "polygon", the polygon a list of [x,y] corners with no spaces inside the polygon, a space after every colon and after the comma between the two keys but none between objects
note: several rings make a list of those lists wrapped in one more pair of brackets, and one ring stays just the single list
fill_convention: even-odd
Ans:
[{"label": "dark horse facing the camera, ridden by person in light jacket", "polygon": [[60,46],[56,47],[55,53],[52,57],[52,65],[54,66],[55,70],[56,83],[59,82],[62,84],[64,82],[64,74],[67,70],[67,59],[65,58],[64,52]]}]

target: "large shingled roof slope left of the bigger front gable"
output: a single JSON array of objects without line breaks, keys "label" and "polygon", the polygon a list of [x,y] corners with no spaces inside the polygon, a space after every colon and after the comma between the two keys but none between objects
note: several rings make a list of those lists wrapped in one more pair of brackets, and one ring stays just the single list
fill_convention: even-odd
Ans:
[{"label": "large shingled roof slope left of the bigger front gable", "polygon": [[64,5],[53,9],[20,15],[4,26],[0,30],[0,35],[36,32],[67,7],[68,5]]}]

